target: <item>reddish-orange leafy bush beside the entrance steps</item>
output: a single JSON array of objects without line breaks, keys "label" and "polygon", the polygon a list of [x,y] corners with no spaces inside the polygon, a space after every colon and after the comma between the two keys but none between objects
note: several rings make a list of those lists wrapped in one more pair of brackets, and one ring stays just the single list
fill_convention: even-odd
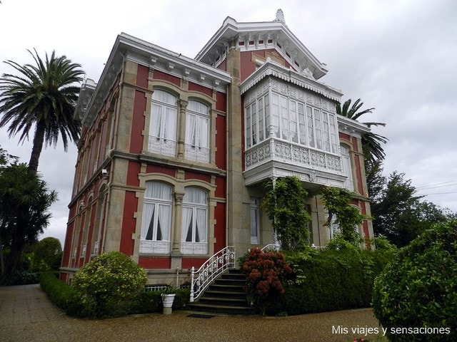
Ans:
[{"label": "reddish-orange leafy bush beside the entrance steps", "polygon": [[257,304],[264,307],[264,302],[284,293],[283,281],[291,268],[279,252],[262,252],[251,249],[244,259],[243,271],[246,273],[246,292]]}]

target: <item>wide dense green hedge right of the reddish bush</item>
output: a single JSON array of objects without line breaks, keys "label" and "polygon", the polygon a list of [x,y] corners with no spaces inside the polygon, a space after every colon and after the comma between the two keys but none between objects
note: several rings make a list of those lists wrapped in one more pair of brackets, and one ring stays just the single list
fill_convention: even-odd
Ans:
[{"label": "wide dense green hedge right of the reddish bush", "polygon": [[[347,243],[348,244],[348,243]],[[390,253],[390,254],[389,254]],[[369,307],[373,282],[393,252],[348,248],[286,254],[295,281],[266,306],[276,316]]]}]

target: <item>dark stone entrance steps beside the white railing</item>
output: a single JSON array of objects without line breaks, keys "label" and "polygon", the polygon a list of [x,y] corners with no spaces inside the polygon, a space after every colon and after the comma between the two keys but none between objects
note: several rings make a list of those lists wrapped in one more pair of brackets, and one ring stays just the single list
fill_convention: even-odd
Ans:
[{"label": "dark stone entrance steps beside the white railing", "polygon": [[238,269],[229,269],[218,276],[197,301],[188,304],[191,311],[207,314],[254,315],[256,309],[248,305],[246,276]]}]

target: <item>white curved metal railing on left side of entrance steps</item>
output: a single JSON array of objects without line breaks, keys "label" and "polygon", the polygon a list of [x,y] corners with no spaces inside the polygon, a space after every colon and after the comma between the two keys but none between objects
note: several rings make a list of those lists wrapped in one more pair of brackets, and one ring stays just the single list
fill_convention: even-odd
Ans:
[{"label": "white curved metal railing on left side of entrance steps", "polygon": [[193,303],[214,279],[229,268],[235,267],[236,248],[227,246],[216,252],[195,271],[191,269],[191,303]]}]

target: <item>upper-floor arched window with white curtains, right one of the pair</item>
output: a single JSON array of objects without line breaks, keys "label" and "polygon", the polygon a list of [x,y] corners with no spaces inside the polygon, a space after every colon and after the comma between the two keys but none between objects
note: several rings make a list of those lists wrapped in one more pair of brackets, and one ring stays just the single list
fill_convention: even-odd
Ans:
[{"label": "upper-floor arched window with white curtains, right one of the pair", "polygon": [[209,162],[209,107],[195,100],[187,105],[186,159]]}]

